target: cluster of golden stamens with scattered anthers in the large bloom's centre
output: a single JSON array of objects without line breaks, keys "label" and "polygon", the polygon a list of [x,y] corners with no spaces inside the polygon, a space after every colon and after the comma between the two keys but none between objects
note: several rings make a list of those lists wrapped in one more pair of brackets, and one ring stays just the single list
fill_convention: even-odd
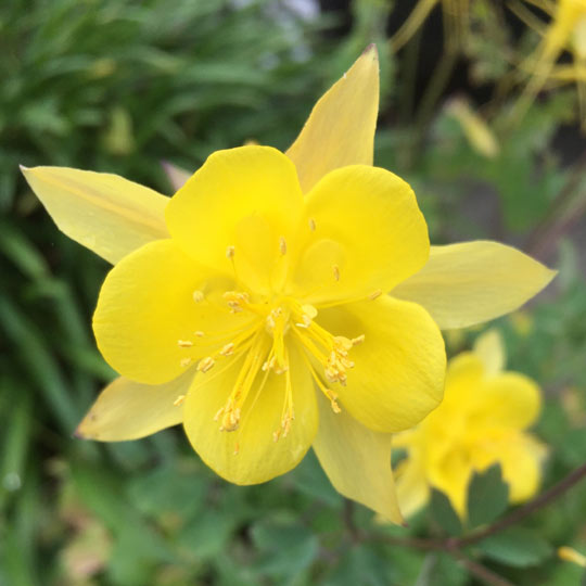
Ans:
[{"label": "cluster of golden stamens with scattered anthers in the large bloom's centre", "polygon": [[[315,220],[309,219],[309,229],[316,229]],[[279,239],[279,252],[284,256],[288,252],[286,241],[283,237]],[[235,249],[228,246],[226,256],[234,262]],[[235,265],[233,265],[235,267]],[[235,270],[235,268],[234,268]],[[332,267],[333,278],[340,280],[340,268],[337,265]],[[237,278],[238,281],[238,278]],[[370,298],[377,298],[381,294],[375,291]],[[194,291],[193,301],[202,303],[206,300],[203,291]],[[332,335],[326,329],[316,323],[315,318],[318,315],[313,305],[300,304],[291,297],[283,297],[277,304],[272,305],[267,314],[267,302],[252,303],[251,295],[245,291],[227,291],[222,295],[231,314],[250,313],[252,319],[247,320],[245,326],[235,329],[235,337],[211,354],[199,360],[196,370],[205,374],[212,370],[218,360],[243,359],[240,372],[237,377],[232,392],[224,407],[218,409],[214,421],[219,422],[219,430],[231,432],[239,429],[243,417],[243,406],[251,391],[254,388],[255,396],[252,404],[263,392],[267,378],[272,373],[284,378],[284,402],[281,413],[281,423],[278,430],[272,434],[277,442],[280,437],[286,437],[290,433],[292,422],[295,419],[293,408],[293,388],[291,384],[291,372],[289,366],[289,349],[285,342],[288,334],[294,336],[301,342],[302,357],[305,360],[314,381],[330,402],[331,408],[335,413],[341,411],[337,404],[337,394],[330,388],[330,384],[340,383],[345,386],[347,383],[347,371],[354,368],[354,361],[349,358],[351,349],[364,342],[365,336],[348,339],[342,335]],[[291,333],[290,333],[291,332]],[[204,339],[202,343],[207,347],[214,345],[214,341],[224,339],[226,332],[206,333],[202,331],[193,332],[194,339]],[[180,348],[191,349],[199,344],[198,340],[178,340]],[[316,362],[323,368],[322,374],[316,371]],[[192,358],[181,359],[182,367],[189,367]],[[219,368],[219,367],[218,367]],[[220,369],[224,371],[224,369]],[[218,372],[219,374],[219,372]],[[205,382],[202,380],[202,384]],[[184,397],[177,398],[176,405],[180,405]],[[239,450],[237,444],[234,454]]]}]

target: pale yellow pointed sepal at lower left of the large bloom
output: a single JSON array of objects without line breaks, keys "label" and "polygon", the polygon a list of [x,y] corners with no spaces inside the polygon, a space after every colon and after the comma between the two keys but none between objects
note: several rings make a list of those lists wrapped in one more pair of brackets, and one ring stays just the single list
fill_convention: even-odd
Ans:
[{"label": "pale yellow pointed sepal at lower left of the large bloom", "polygon": [[177,399],[187,393],[191,373],[160,385],[118,378],[91,406],[75,435],[100,442],[123,442],[151,435],[181,423],[183,410]]}]

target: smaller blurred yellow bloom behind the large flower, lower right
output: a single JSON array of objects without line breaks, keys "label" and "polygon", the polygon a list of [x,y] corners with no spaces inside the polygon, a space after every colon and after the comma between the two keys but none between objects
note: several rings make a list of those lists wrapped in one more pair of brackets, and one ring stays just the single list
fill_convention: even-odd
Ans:
[{"label": "smaller blurred yellow bloom behind the large flower, lower right", "polygon": [[511,502],[537,493],[545,447],[524,430],[539,415],[539,388],[504,367],[500,336],[489,331],[472,352],[449,361],[442,405],[413,430],[395,435],[395,446],[407,450],[396,469],[405,515],[425,505],[434,487],[466,518],[472,474],[495,463],[501,467]]}]

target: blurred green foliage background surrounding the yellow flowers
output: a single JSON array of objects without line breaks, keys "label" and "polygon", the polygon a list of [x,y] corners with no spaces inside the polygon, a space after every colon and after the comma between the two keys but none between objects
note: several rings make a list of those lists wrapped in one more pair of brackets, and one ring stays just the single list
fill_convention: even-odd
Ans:
[{"label": "blurred green foliage background surrounding the yellow flowers", "polygon": [[[438,3],[394,54],[388,38],[415,2],[395,4],[1,3],[2,586],[480,583],[447,555],[375,537],[441,536],[433,507],[409,528],[379,525],[330,487],[313,454],[266,485],[237,487],[206,469],[179,429],[112,445],[73,438],[114,375],[90,329],[109,266],[58,231],[17,170],[112,171],[170,194],[162,161],[194,170],[212,151],[247,140],[286,149],[316,99],[373,41],[375,163],[413,186],[432,241],[492,238],[559,269],[545,294],[495,324],[509,367],[544,390],[544,486],[586,460],[586,141],[576,89],[543,92],[511,118],[523,87],[514,63],[538,42],[534,30],[505,2],[477,0],[469,35],[448,51]],[[450,354],[479,331],[448,332]],[[373,537],[356,538],[354,524]],[[586,551],[586,482],[469,553],[513,584],[579,584],[584,570],[556,556],[562,545]]]}]

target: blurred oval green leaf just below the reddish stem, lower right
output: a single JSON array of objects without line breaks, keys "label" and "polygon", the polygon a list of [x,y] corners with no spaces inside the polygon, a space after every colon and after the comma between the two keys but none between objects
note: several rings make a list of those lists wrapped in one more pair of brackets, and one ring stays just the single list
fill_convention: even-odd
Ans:
[{"label": "blurred oval green leaf just below the reddish stem, lower right", "polygon": [[492,560],[515,568],[537,565],[552,551],[543,537],[523,527],[511,527],[486,537],[479,549]]}]

